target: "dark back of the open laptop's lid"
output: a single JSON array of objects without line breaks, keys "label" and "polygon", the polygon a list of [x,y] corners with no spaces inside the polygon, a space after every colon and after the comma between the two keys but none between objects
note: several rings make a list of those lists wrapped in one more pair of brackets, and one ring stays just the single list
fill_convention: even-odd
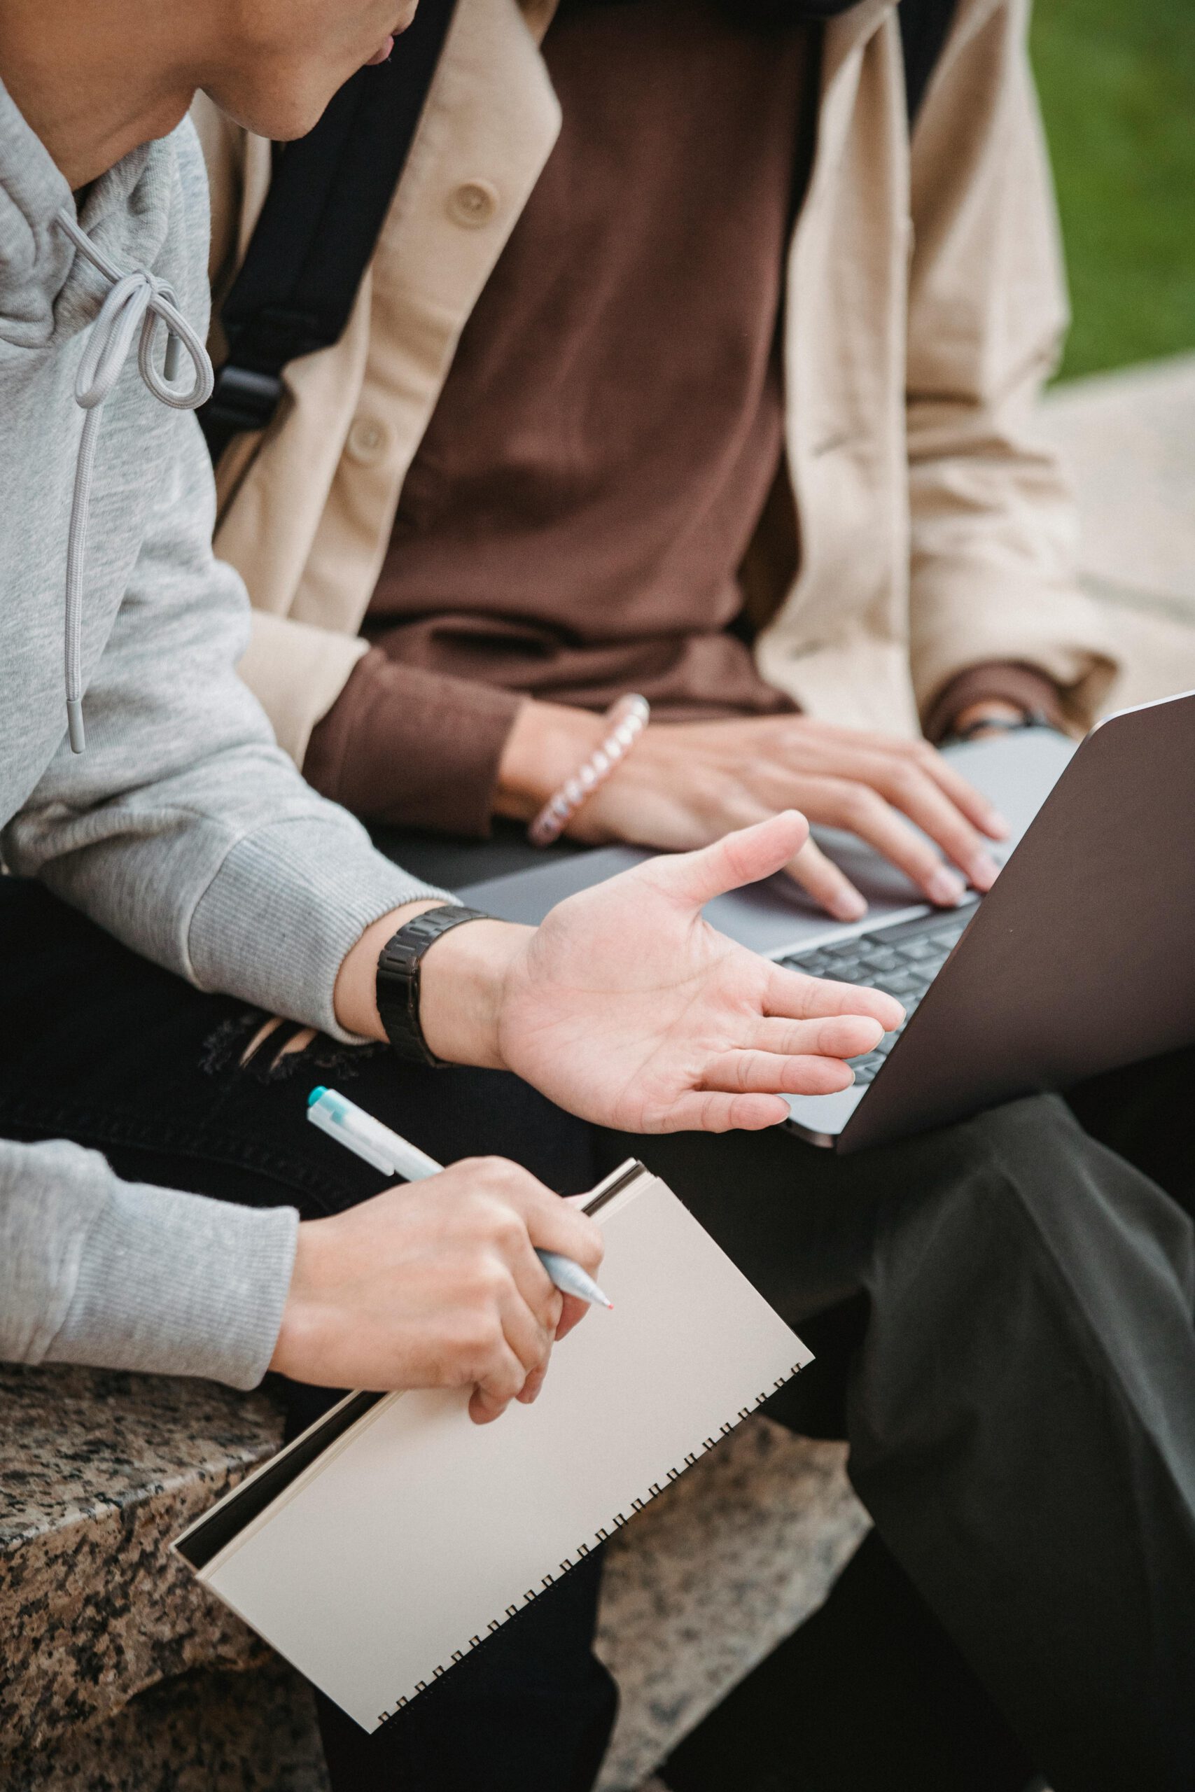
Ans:
[{"label": "dark back of the open laptop's lid", "polygon": [[1193,823],[1195,694],[1088,735],[838,1149],[1191,1043]]}]

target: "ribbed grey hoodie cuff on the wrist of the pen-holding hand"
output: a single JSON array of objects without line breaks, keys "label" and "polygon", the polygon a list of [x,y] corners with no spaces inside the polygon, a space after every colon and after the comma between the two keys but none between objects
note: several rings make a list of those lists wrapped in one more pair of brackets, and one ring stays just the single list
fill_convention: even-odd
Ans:
[{"label": "ribbed grey hoodie cuff on the wrist of the pen-holding hand", "polygon": [[50,1362],[256,1387],[290,1288],[299,1215],[120,1183],[88,1231]]}]

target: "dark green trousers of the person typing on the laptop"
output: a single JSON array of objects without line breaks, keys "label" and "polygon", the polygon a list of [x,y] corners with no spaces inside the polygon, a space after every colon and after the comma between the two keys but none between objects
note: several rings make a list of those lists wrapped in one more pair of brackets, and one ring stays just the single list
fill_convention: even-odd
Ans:
[{"label": "dark green trousers of the person typing on the laptop", "polygon": [[856,1158],[638,1142],[819,1351],[776,1416],[849,1439],[1055,1792],[1195,1787],[1195,1253],[1123,1154],[1190,1199],[1193,1079],[1182,1054]]}]

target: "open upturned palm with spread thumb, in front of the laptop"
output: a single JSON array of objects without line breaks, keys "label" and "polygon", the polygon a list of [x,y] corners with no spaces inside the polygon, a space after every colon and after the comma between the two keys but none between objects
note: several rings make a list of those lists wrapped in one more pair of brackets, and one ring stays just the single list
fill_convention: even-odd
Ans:
[{"label": "open upturned palm with spread thumb, in front of the laptop", "polygon": [[788,810],[697,853],[652,858],[559,903],[512,961],[502,1057],[563,1107],[629,1133],[760,1129],[783,1095],[844,1090],[901,1007],[781,969],[702,919],[788,864]]}]

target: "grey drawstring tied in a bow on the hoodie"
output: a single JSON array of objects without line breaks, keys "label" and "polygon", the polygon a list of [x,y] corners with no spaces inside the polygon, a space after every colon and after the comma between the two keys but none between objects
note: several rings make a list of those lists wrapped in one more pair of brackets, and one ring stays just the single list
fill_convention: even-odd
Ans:
[{"label": "grey drawstring tied in a bow on the hoodie", "polygon": [[[143,269],[122,274],[102,249],[97,249],[66,208],[57,213],[57,224],[66,231],[75,249],[88,258],[91,267],[104,280],[111,281],[111,292],[91,324],[91,337],[82,351],[75,376],[75,401],[82,407],[86,418],[82,423],[82,441],[79,443],[79,459],[75,462],[75,489],[70,500],[70,534],[66,538],[66,726],[70,729],[72,753],[82,753],[86,749],[82,677],[79,670],[82,566],[88,507],[91,504],[95,441],[104,400],[120,378],[138,326],[142,340],[138,344],[136,364],[142,371],[142,380],[159,403],[170,405],[172,410],[197,410],[211,396],[213,375],[208,349],[179,312],[177,297],[170,287]],[[154,367],[154,340],[159,324],[167,328],[165,378]],[[179,391],[170,383],[179,369],[179,344],[190,355],[195,371],[190,391]]]}]

